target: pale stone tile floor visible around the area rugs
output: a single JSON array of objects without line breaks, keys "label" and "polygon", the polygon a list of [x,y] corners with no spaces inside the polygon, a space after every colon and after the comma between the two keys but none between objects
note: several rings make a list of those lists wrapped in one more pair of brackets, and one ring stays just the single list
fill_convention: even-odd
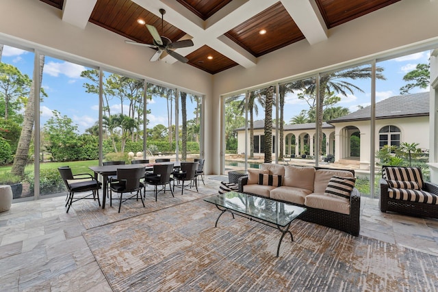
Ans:
[{"label": "pale stone tile floor visible around the area rugs", "polygon": [[[0,291],[112,291],[64,202],[19,202],[0,213]],[[376,199],[362,198],[360,235],[438,257],[438,220],[381,213]]]}]

